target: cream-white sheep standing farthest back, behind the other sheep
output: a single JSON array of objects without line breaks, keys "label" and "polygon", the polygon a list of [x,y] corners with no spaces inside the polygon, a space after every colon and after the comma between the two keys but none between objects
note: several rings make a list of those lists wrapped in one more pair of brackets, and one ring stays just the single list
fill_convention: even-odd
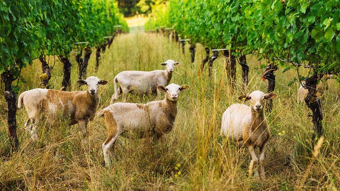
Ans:
[{"label": "cream-white sheep standing farthest back, behind the other sheep", "polygon": [[123,71],[117,74],[114,79],[115,93],[111,97],[110,104],[113,104],[120,94],[123,94],[122,102],[126,102],[128,93],[152,93],[154,95],[159,95],[159,92],[157,92],[157,86],[166,86],[173,76],[174,66],[179,66],[181,63],[169,59],[160,63],[160,65],[166,66],[166,69],[149,72]]}]

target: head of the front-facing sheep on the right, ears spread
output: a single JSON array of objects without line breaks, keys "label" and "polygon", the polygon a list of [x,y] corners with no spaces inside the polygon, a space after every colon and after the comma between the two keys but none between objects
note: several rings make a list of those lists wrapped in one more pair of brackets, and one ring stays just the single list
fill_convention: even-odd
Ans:
[{"label": "head of the front-facing sheep on the right, ears spread", "polygon": [[272,100],[277,97],[276,93],[264,93],[256,90],[251,92],[249,95],[241,95],[239,100],[248,101],[250,100],[251,109],[255,112],[262,112],[265,100]]}]

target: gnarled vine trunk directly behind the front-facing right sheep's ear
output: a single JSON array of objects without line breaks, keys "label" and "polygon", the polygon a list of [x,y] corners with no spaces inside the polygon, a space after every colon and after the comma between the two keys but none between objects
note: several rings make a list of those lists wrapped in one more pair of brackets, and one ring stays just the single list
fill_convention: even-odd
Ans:
[{"label": "gnarled vine trunk directly behind the front-facing right sheep's ear", "polygon": [[[274,72],[277,70],[277,65],[271,63],[266,67],[266,70],[263,73],[262,79],[268,80],[268,89],[267,93],[273,92],[275,89],[275,74]],[[273,100],[266,100],[266,111],[271,113],[273,108]]]}]

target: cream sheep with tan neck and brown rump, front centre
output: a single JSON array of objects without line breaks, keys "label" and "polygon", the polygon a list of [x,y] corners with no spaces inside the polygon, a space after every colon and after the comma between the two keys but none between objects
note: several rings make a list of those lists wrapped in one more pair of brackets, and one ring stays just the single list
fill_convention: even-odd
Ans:
[{"label": "cream sheep with tan neck and brown rump, front centre", "polygon": [[173,128],[177,115],[177,100],[180,91],[187,90],[188,85],[169,84],[157,86],[166,92],[165,99],[147,104],[115,103],[98,112],[98,117],[104,116],[107,129],[107,139],[102,144],[105,165],[110,166],[109,150],[113,155],[115,142],[124,132],[133,132],[138,138],[154,136],[156,140],[166,141],[166,134]]}]

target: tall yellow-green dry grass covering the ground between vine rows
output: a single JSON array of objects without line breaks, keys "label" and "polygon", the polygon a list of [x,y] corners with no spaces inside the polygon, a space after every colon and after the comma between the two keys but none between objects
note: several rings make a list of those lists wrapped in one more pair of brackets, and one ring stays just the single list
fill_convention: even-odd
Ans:
[{"label": "tall yellow-green dry grass covering the ground between vine rows", "polygon": [[[304,103],[298,104],[298,84],[288,86],[296,77],[291,70],[276,72],[273,112],[268,116],[272,137],[266,152],[266,180],[248,177],[250,155],[247,149],[237,150],[219,136],[222,113],[229,105],[239,103],[244,93],[267,90],[267,81],[260,78],[263,70],[256,70],[261,62],[248,55],[249,86],[241,88],[241,69],[237,66],[237,86],[226,85],[224,61],[214,62],[209,79],[206,67],[199,66],[205,57],[204,48],[197,45],[195,62],[190,62],[188,45],[182,55],[179,45],[156,34],[120,35],[102,54],[99,71],[95,73],[95,51],[89,61],[88,75],[109,81],[99,89],[98,109],[109,105],[114,93],[113,79],[124,70],[163,69],[159,63],[174,59],[182,65],[175,68],[171,83],[188,84],[178,101],[178,115],[168,142],[153,144],[150,139],[131,140],[120,137],[116,142],[117,158],[111,168],[105,168],[101,144],[106,139],[102,118],[89,123],[86,141],[81,139],[77,125],[67,126],[60,121],[47,129],[39,127],[37,142],[30,140],[24,130],[27,114],[18,110],[17,134],[20,148],[10,156],[7,136],[7,106],[0,96],[0,187],[4,190],[294,190],[330,189],[340,187],[340,86],[330,82],[330,89],[322,102],[324,114],[324,142],[315,161],[311,162],[309,139],[313,124],[311,112]],[[50,61],[53,58],[50,58]],[[77,90],[77,65],[74,55],[71,82]],[[22,71],[26,83],[19,82],[21,91],[39,86],[40,62]],[[306,71],[301,71],[306,73]],[[63,66],[56,61],[50,84],[61,87]],[[15,82],[16,83],[16,82]],[[128,102],[146,103],[150,98],[129,95]],[[44,132],[44,133],[42,133]],[[285,165],[286,164],[286,165]],[[309,170],[306,172],[306,170]],[[306,178],[301,185],[302,179]]]}]

